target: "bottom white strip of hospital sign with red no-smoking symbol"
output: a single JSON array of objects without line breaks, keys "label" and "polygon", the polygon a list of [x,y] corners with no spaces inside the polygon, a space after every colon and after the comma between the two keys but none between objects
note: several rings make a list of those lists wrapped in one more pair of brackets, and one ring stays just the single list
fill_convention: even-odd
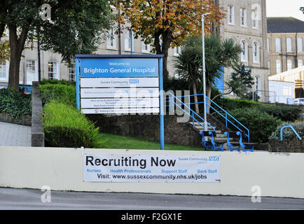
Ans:
[{"label": "bottom white strip of hospital sign with red no-smoking symbol", "polygon": [[123,108],[123,109],[81,109],[81,113],[111,113],[111,114],[123,114],[123,113],[160,113],[159,108]]}]

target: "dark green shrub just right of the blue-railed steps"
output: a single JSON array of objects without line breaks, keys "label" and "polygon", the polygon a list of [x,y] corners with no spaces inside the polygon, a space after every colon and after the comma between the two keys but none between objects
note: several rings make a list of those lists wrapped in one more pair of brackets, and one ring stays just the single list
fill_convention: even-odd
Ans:
[{"label": "dark green shrub just right of the blue-railed steps", "polygon": [[228,112],[249,129],[251,142],[267,142],[272,132],[282,123],[282,120],[256,108],[234,109]]}]

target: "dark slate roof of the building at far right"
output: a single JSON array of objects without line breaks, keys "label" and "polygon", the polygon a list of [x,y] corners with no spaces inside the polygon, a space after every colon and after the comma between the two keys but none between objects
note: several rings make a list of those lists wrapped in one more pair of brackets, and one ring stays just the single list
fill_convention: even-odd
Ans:
[{"label": "dark slate roof of the building at far right", "polygon": [[304,22],[293,17],[268,17],[268,33],[304,33]]}]

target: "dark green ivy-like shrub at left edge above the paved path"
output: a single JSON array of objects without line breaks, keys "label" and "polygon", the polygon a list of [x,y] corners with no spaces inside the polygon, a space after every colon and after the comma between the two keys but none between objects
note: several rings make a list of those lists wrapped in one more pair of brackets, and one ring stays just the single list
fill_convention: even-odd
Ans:
[{"label": "dark green ivy-like shrub at left edge above the paved path", "polygon": [[0,113],[8,113],[13,118],[32,115],[32,94],[0,89]]}]

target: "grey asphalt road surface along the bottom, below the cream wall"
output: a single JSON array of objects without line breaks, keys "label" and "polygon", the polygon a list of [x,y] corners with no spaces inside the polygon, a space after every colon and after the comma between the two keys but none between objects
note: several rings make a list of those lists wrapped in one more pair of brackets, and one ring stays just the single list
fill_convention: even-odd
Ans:
[{"label": "grey asphalt road surface along the bottom, below the cream wall", "polygon": [[300,209],[304,199],[145,193],[83,193],[0,188],[0,210],[256,210]]}]

